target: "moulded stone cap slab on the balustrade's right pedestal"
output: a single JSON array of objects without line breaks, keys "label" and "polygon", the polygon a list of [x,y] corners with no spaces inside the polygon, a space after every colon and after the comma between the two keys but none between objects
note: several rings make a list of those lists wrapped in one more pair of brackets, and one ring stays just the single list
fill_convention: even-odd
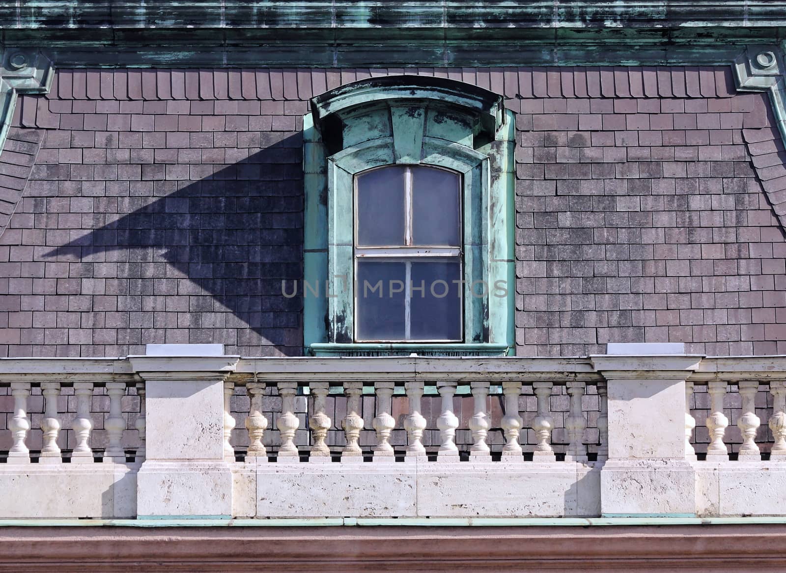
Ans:
[{"label": "moulded stone cap slab on the balustrade's right pedestal", "polygon": [[605,378],[679,378],[699,368],[703,354],[592,354],[589,361]]}]

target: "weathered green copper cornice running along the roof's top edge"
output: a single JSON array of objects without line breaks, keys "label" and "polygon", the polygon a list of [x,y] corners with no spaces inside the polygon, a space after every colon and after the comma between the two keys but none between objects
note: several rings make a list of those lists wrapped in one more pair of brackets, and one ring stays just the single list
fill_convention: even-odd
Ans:
[{"label": "weathered green copper cornice running along the roof's top edge", "polygon": [[46,46],[61,66],[722,64],[786,39],[786,3],[766,0],[8,5],[0,43]]}]

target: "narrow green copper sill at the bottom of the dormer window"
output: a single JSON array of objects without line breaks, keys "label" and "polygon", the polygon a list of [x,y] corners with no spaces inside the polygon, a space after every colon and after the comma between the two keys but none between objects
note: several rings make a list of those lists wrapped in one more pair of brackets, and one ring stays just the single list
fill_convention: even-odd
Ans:
[{"label": "narrow green copper sill at the bottom of the dormer window", "polygon": [[313,343],[314,356],[508,356],[507,344],[490,343]]}]

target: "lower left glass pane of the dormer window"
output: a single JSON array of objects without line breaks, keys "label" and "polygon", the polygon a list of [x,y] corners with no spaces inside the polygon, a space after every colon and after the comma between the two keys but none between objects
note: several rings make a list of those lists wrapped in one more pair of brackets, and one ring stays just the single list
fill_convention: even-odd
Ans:
[{"label": "lower left glass pane of the dormer window", "polygon": [[405,276],[406,263],[358,261],[358,340],[404,340]]}]

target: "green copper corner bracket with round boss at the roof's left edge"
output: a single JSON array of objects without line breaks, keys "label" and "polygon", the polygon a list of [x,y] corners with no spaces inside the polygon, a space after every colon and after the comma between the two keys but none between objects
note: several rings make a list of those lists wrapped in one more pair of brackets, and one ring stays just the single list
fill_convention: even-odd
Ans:
[{"label": "green copper corner bracket with round boss at the roof's left edge", "polygon": [[49,94],[54,67],[41,50],[6,48],[2,52],[0,68],[0,151],[6,144],[6,135],[19,94]]}]

